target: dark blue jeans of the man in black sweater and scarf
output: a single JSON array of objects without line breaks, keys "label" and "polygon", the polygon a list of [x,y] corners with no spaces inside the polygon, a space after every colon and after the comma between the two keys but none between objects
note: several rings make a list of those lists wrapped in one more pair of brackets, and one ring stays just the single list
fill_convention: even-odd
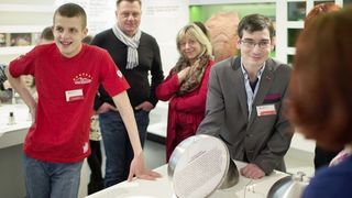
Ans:
[{"label": "dark blue jeans of the man in black sweater and scarf", "polygon": [[[134,112],[142,146],[146,138],[146,128],[150,123],[148,112]],[[102,142],[106,150],[105,187],[125,180],[130,173],[133,160],[133,150],[129,134],[119,112],[109,111],[99,116]]]}]

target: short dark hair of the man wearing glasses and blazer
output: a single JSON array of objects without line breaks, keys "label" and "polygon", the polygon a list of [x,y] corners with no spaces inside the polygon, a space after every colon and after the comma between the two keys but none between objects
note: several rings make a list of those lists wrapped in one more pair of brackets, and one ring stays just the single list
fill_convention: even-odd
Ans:
[{"label": "short dark hair of the man wearing glasses and blazer", "polygon": [[272,40],[275,36],[275,30],[272,20],[262,14],[250,14],[244,16],[240,21],[238,28],[238,35],[240,38],[242,38],[243,31],[253,33],[256,31],[263,31],[264,29],[268,30]]}]

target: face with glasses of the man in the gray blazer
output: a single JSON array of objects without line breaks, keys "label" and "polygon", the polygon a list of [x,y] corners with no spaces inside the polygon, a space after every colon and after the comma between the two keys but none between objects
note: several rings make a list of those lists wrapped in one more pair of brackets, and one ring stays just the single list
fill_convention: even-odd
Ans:
[{"label": "face with glasses of the man in the gray blazer", "polygon": [[[250,46],[253,43],[254,46]],[[238,48],[241,50],[242,63],[245,67],[261,67],[273,47],[268,29],[253,33],[243,30],[242,37],[238,38]]]}]

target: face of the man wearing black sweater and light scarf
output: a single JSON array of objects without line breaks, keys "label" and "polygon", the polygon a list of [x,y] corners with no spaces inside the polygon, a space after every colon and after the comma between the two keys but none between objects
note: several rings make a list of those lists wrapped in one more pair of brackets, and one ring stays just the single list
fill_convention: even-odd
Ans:
[{"label": "face of the man wearing black sweater and light scarf", "polygon": [[121,1],[116,11],[119,29],[132,37],[141,24],[141,14],[142,10],[139,1]]}]

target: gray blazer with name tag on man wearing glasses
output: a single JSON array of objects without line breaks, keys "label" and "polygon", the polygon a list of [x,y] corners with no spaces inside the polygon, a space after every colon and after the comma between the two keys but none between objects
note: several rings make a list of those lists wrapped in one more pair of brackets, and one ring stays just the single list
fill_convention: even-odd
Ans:
[{"label": "gray blazer with name tag on man wearing glasses", "polygon": [[[246,157],[266,175],[273,169],[285,172],[284,155],[289,148],[293,128],[283,116],[283,100],[290,70],[272,58],[266,61],[249,118],[241,57],[215,65],[210,72],[206,118],[197,133],[220,138],[232,158],[245,161]],[[274,105],[276,114],[258,117],[256,107],[263,105]]]}]

